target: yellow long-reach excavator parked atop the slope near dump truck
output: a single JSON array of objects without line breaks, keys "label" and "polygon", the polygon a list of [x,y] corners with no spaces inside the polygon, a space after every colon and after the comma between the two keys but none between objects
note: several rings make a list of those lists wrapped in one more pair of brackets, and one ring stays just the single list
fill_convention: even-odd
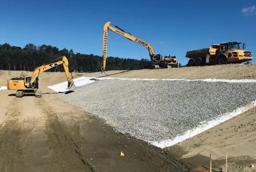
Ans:
[{"label": "yellow long-reach excavator parked atop the slope near dump truck", "polygon": [[150,62],[151,65],[147,68],[170,68],[170,67],[179,67],[179,63],[176,61],[175,56],[166,56],[163,57],[161,54],[156,54],[155,50],[153,49],[152,45],[148,42],[143,41],[137,37],[134,37],[130,33],[125,32],[125,30],[119,28],[118,26],[111,26],[111,22],[107,22],[103,28],[103,65],[101,67],[101,71],[105,73],[106,68],[106,61],[107,61],[107,42],[108,42],[108,30],[112,30],[128,40],[134,41],[137,44],[144,46],[146,49],[149,50]]}]

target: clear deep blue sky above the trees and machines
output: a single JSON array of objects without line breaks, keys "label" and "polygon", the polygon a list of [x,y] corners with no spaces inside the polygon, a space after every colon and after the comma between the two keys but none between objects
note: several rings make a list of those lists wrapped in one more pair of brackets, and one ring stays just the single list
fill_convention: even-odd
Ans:
[{"label": "clear deep blue sky above the trees and machines", "polygon": [[[0,44],[47,44],[102,56],[107,21],[149,42],[156,53],[175,55],[182,64],[188,61],[187,50],[227,41],[246,42],[246,49],[256,54],[254,0],[1,1]],[[147,49],[113,32],[108,56],[149,59]]]}]

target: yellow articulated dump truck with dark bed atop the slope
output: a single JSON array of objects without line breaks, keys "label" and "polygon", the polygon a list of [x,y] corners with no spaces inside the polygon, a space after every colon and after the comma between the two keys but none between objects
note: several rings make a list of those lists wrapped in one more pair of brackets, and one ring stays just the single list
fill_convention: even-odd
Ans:
[{"label": "yellow articulated dump truck with dark bed atop the slope", "polygon": [[190,59],[187,65],[192,67],[253,60],[253,54],[251,51],[245,50],[245,46],[241,42],[224,42],[213,44],[210,48],[188,51],[186,57]]}]

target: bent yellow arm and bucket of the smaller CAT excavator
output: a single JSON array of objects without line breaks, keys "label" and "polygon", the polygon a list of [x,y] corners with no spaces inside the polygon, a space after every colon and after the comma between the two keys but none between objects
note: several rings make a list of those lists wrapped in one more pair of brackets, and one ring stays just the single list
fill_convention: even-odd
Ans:
[{"label": "bent yellow arm and bucket of the smaller CAT excavator", "polygon": [[37,67],[32,73],[31,80],[29,81],[29,84],[32,85],[40,73],[47,71],[48,69],[57,67],[58,65],[62,64],[63,68],[65,70],[66,77],[67,77],[67,82],[68,82],[67,88],[74,89],[74,87],[75,87],[74,81],[73,81],[72,77],[69,76],[69,61],[67,60],[66,56],[62,56],[57,59],[60,59],[60,58],[61,58],[61,60],[59,60],[59,61],[51,62],[49,64],[45,64],[40,67]]}]

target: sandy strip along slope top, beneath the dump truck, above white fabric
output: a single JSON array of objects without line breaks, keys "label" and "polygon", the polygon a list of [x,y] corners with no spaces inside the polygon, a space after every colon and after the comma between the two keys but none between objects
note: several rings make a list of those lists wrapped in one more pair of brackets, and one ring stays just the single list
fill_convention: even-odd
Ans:
[{"label": "sandy strip along slope top, beneath the dump truck, above white fabric", "polygon": [[[134,71],[106,71],[109,77],[149,79],[256,79],[256,64],[228,64],[205,67],[183,67],[169,69],[144,69]],[[116,73],[116,74],[115,74]],[[115,74],[115,75],[113,75]],[[84,76],[100,77],[101,72]]]}]

